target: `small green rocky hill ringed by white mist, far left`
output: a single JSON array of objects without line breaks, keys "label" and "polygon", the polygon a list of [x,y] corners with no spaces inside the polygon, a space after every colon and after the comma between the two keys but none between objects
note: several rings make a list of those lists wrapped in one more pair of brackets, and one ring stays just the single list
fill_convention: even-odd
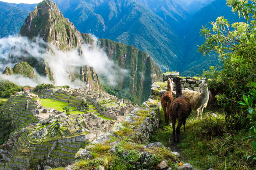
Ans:
[{"label": "small green rocky hill ringed by white mist, far left", "polygon": [[12,75],[12,74],[20,74],[25,77],[29,77],[31,79],[36,78],[36,72],[32,66],[30,66],[27,62],[18,62],[11,69],[10,67],[6,67],[4,69],[3,74]]}]

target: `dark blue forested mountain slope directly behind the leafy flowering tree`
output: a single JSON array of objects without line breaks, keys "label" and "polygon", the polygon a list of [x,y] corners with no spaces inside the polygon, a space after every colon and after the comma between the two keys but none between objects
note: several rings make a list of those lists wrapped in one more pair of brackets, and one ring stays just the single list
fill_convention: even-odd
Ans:
[{"label": "dark blue forested mountain slope directly behind the leafy flowering tree", "polygon": [[231,7],[226,5],[226,0],[214,0],[194,14],[186,24],[186,30],[184,31],[186,62],[185,67],[182,69],[182,75],[190,76],[191,74],[200,74],[203,72],[203,69],[220,64],[214,53],[213,56],[207,56],[205,58],[197,52],[197,45],[201,45],[205,41],[203,36],[200,37],[200,29],[205,25],[211,27],[212,25],[209,23],[216,21],[217,17],[220,16],[224,16],[230,23],[244,21],[231,11]]}]

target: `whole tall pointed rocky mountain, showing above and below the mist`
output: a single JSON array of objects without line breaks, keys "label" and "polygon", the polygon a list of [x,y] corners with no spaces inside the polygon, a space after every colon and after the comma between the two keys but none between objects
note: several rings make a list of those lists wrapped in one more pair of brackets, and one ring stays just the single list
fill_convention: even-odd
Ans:
[{"label": "whole tall pointed rocky mountain, showing above and below the mist", "polygon": [[[39,3],[29,14],[21,27],[20,35],[32,40],[39,36],[45,42],[57,46],[57,49],[62,51],[76,49],[84,44],[81,33],[68,19],[63,17],[56,3],[49,0]],[[53,52],[51,47],[47,47],[47,49],[49,52]],[[50,63],[47,63],[44,59],[36,59],[31,56],[23,60],[34,66],[43,76],[48,76],[50,80],[54,80],[53,72],[49,67]],[[100,80],[92,67],[82,66],[77,69],[67,69],[72,81],[79,78],[83,83],[83,87],[102,89]],[[79,72],[75,73],[73,70],[79,70]]]}]

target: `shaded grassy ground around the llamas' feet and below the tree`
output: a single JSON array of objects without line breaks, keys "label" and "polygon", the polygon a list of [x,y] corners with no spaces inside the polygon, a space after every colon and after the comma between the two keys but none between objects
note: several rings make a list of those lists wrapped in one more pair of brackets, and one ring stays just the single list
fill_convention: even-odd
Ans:
[{"label": "shaded grassy ground around the llamas' feet and below the tree", "polygon": [[[161,111],[162,123],[151,142],[173,147],[172,127],[163,123],[163,114]],[[256,161],[247,160],[253,154],[251,141],[242,140],[249,135],[229,129],[224,115],[217,114],[217,118],[209,117],[206,110],[202,120],[192,114],[188,116],[185,132],[181,126],[182,139],[178,144],[181,160],[199,170],[256,170]]]}]

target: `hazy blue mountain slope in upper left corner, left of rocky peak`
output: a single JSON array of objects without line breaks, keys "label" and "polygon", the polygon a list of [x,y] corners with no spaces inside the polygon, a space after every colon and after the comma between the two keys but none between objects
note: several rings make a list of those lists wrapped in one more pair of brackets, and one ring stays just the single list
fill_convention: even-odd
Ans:
[{"label": "hazy blue mountain slope in upper left corner, left of rocky peak", "polygon": [[16,4],[0,1],[0,38],[19,32],[25,18],[36,4]]}]

